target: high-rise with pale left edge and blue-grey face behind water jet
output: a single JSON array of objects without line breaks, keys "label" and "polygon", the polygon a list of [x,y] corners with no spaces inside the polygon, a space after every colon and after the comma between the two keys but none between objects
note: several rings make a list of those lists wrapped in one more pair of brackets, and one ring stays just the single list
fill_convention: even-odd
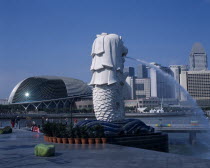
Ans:
[{"label": "high-rise with pale left edge and blue-grey face behind water jet", "polygon": [[[172,83],[167,75],[173,76],[170,68],[163,67],[157,63],[151,63],[156,66],[164,73],[157,71],[154,68],[150,68],[150,78],[151,78],[151,97],[158,98],[175,98],[175,88],[174,83]],[[165,75],[166,74],[166,75]]]}]

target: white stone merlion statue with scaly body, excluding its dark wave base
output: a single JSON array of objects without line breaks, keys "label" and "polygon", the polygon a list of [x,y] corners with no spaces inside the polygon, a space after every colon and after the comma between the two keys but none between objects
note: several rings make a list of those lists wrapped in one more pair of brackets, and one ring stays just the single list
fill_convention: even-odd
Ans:
[{"label": "white stone merlion statue with scaly body, excluding its dark wave base", "polygon": [[123,85],[124,56],[128,49],[121,36],[102,33],[92,46],[93,105],[97,120],[119,121],[124,119]]}]

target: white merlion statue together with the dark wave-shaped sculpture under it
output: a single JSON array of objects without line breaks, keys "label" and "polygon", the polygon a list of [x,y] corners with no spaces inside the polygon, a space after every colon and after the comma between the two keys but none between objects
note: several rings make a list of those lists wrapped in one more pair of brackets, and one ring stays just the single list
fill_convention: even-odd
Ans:
[{"label": "white merlion statue together with the dark wave-shaped sculpture under it", "polygon": [[97,120],[83,120],[76,126],[87,130],[101,125],[106,136],[139,135],[153,133],[154,128],[139,119],[125,119],[123,103],[123,75],[128,49],[116,34],[97,35],[92,46],[93,106]]}]

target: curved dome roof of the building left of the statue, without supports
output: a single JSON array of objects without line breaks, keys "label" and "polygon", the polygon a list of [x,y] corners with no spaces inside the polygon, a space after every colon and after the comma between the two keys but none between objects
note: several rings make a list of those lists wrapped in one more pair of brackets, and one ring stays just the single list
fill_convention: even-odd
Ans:
[{"label": "curved dome roof of the building left of the statue, without supports", "polygon": [[8,102],[35,102],[91,95],[91,88],[81,80],[58,76],[35,76],[19,82],[12,90]]}]

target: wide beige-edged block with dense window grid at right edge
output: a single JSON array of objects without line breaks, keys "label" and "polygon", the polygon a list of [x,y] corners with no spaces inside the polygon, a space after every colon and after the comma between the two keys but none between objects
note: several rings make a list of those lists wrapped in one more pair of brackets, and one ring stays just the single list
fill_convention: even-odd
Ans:
[{"label": "wide beige-edged block with dense window grid at right edge", "polygon": [[[210,107],[210,71],[183,71],[180,84],[201,107]],[[186,97],[182,95],[182,99]]]}]

